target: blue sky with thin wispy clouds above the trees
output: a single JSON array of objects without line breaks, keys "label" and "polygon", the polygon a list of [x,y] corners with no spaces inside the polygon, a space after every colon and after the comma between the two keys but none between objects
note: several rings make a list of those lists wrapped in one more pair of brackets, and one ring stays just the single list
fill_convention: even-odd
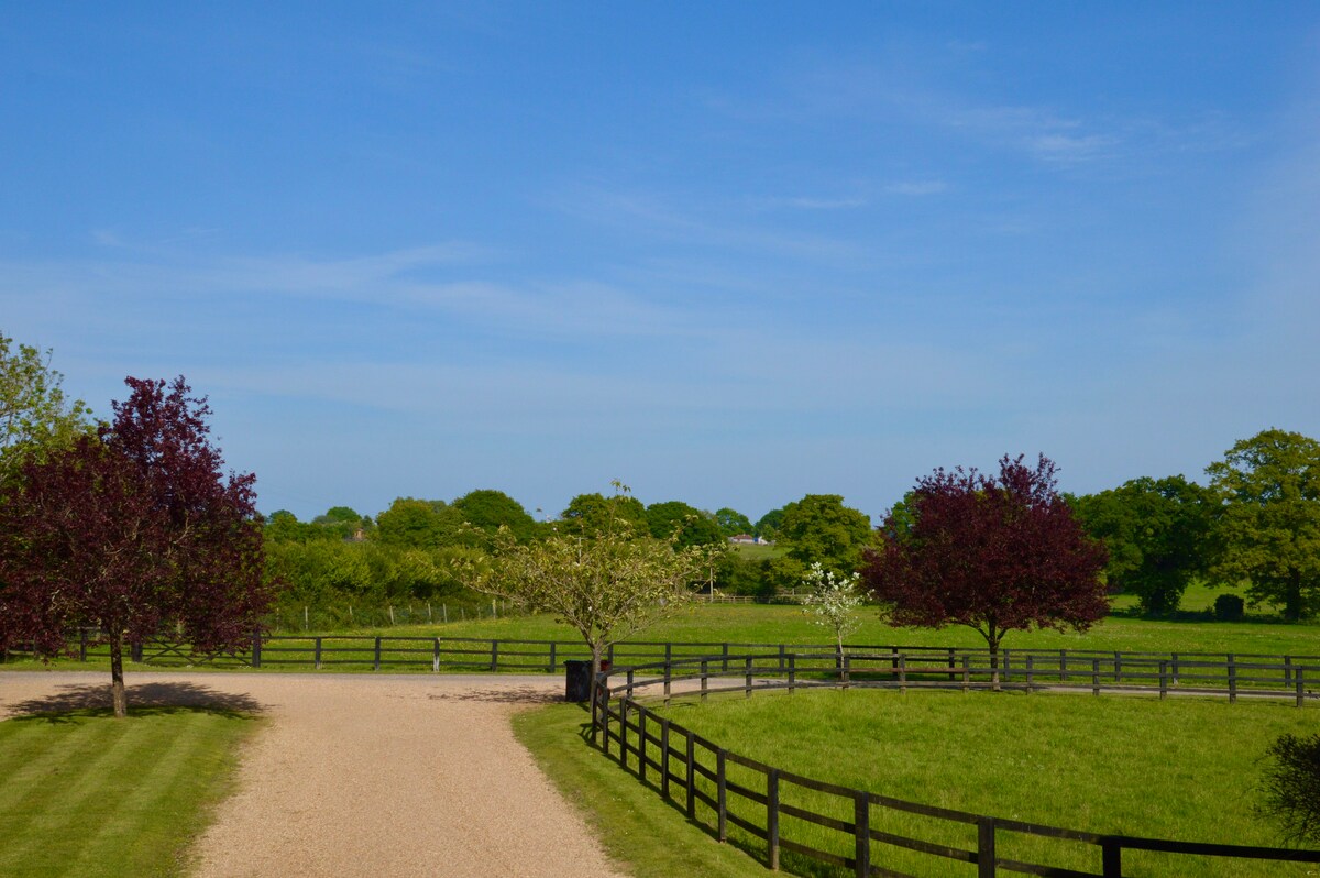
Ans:
[{"label": "blue sky with thin wispy clouds above the trees", "polygon": [[99,415],[185,375],[265,511],[1320,436],[1312,3],[0,20],[0,333]]}]

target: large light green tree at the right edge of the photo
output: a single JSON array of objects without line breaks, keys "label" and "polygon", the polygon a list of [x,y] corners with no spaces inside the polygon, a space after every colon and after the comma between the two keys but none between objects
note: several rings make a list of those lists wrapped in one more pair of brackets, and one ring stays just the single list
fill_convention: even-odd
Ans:
[{"label": "large light green tree at the right edge of the photo", "polygon": [[1251,601],[1282,603],[1286,619],[1313,611],[1320,599],[1320,442],[1263,430],[1205,471],[1222,503],[1222,553],[1212,574],[1247,582]]}]

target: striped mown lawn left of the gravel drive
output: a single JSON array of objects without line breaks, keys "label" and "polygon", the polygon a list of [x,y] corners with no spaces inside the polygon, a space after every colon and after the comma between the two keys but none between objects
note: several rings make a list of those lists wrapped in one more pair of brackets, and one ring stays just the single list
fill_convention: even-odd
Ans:
[{"label": "striped mown lawn left of the gravel drive", "polygon": [[232,710],[131,708],[0,722],[0,875],[185,875],[257,722]]}]

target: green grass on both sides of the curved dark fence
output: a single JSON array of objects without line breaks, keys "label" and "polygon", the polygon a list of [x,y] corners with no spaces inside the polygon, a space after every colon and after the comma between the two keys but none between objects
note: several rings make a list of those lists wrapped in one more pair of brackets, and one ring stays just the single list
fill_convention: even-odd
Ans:
[{"label": "green grass on both sides of the curved dark fence", "polygon": [[[1307,733],[1315,713],[1279,704],[1229,706],[1193,698],[1026,696],[1015,693],[909,693],[821,691],[676,702],[663,712],[733,751],[820,780],[870,790],[958,811],[1097,833],[1184,841],[1280,844],[1274,827],[1253,813],[1259,759],[1276,735]],[[615,811],[628,812],[628,832],[653,833],[645,846],[681,848],[706,874],[700,857],[723,857],[709,832],[690,825],[673,805],[661,804],[618,763],[581,738],[585,717],[552,708],[519,718],[520,735],[552,776],[602,827],[615,827]],[[635,762],[635,760],[634,760]],[[704,763],[713,759],[702,759]],[[730,763],[730,782],[764,790],[764,775]],[[652,780],[653,780],[652,772]],[[713,795],[713,784],[706,783]],[[647,799],[653,801],[647,801]],[[675,797],[681,799],[676,788]],[[784,804],[851,820],[851,801],[781,787]],[[656,811],[659,804],[660,811]],[[705,805],[701,805],[705,809]],[[764,825],[764,807],[730,797],[735,815]],[[974,827],[873,808],[873,828],[975,849]],[[708,813],[706,823],[713,823]],[[649,829],[645,829],[649,827]],[[783,837],[840,856],[851,841],[784,817]],[[764,842],[733,828],[731,846],[748,866],[764,870]],[[1100,871],[1100,852],[1089,845],[1038,840],[1001,832],[999,856],[1056,867]],[[624,844],[627,849],[631,842]],[[913,875],[964,875],[975,867],[875,844],[873,862]],[[841,875],[842,870],[784,854],[789,874]],[[636,874],[680,874],[649,853],[634,860]],[[1315,865],[1258,863],[1125,853],[1134,875],[1304,875]],[[743,873],[710,873],[743,874]],[[747,873],[751,874],[751,873]]]}]

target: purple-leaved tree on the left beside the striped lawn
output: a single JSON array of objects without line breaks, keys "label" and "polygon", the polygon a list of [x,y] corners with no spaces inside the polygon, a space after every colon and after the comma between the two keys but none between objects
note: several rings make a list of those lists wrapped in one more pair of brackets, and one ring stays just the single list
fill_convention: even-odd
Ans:
[{"label": "purple-leaved tree on the left beside the striped lawn", "polygon": [[116,717],[125,643],[169,630],[199,654],[238,650],[269,606],[255,477],[222,475],[206,400],[182,378],[125,383],[114,422],[29,459],[0,502],[0,640],[50,656],[98,628]]}]

